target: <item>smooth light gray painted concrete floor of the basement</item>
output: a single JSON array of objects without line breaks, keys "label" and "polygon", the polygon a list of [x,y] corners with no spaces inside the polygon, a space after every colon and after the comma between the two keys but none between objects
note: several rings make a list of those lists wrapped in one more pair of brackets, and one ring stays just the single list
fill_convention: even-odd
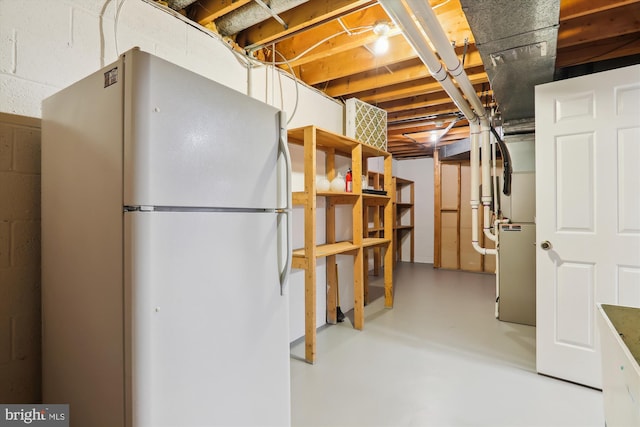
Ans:
[{"label": "smooth light gray painted concrete floor of the basement", "polygon": [[494,276],[410,263],[394,276],[393,309],[378,298],[363,331],[321,329],[314,365],[292,345],[294,427],[604,426],[600,391],[538,375],[535,328],[496,320]]}]

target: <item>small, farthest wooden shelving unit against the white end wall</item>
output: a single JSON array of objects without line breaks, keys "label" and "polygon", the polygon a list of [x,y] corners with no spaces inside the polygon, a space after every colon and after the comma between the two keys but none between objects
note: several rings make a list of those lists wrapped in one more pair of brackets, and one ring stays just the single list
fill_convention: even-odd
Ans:
[{"label": "small, farthest wooden shelving unit against the white end wall", "polygon": [[[409,236],[409,260],[414,260],[415,233],[414,233],[414,188],[413,181],[408,179],[393,177],[394,188],[394,209],[393,221],[393,242],[395,261],[402,261],[402,236]],[[408,223],[403,224],[403,218],[408,214]],[[406,220],[405,220],[406,221]]]}]

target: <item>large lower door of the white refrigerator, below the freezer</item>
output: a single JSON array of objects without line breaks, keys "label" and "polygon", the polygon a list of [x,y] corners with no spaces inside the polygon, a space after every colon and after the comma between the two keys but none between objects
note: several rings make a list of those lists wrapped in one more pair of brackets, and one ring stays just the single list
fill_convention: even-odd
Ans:
[{"label": "large lower door of the white refrigerator, below the freezer", "polygon": [[125,214],[127,425],[290,425],[275,213]]}]

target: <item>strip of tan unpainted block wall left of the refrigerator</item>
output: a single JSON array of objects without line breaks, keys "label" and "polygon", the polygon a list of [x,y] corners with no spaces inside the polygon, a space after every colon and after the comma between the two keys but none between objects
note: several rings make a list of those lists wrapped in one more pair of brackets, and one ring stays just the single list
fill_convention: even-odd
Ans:
[{"label": "strip of tan unpainted block wall left of the refrigerator", "polygon": [[40,401],[40,121],[0,113],[0,402]]}]

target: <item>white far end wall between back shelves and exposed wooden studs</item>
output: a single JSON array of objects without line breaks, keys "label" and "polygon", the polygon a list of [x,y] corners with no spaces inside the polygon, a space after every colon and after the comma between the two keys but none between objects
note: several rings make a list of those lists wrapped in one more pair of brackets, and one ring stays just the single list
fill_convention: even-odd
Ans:
[{"label": "white far end wall between back shelves and exposed wooden studs", "polygon": [[[433,159],[396,162],[395,175],[414,181],[414,262],[433,264]],[[409,260],[409,241],[402,247],[403,261]]]}]

